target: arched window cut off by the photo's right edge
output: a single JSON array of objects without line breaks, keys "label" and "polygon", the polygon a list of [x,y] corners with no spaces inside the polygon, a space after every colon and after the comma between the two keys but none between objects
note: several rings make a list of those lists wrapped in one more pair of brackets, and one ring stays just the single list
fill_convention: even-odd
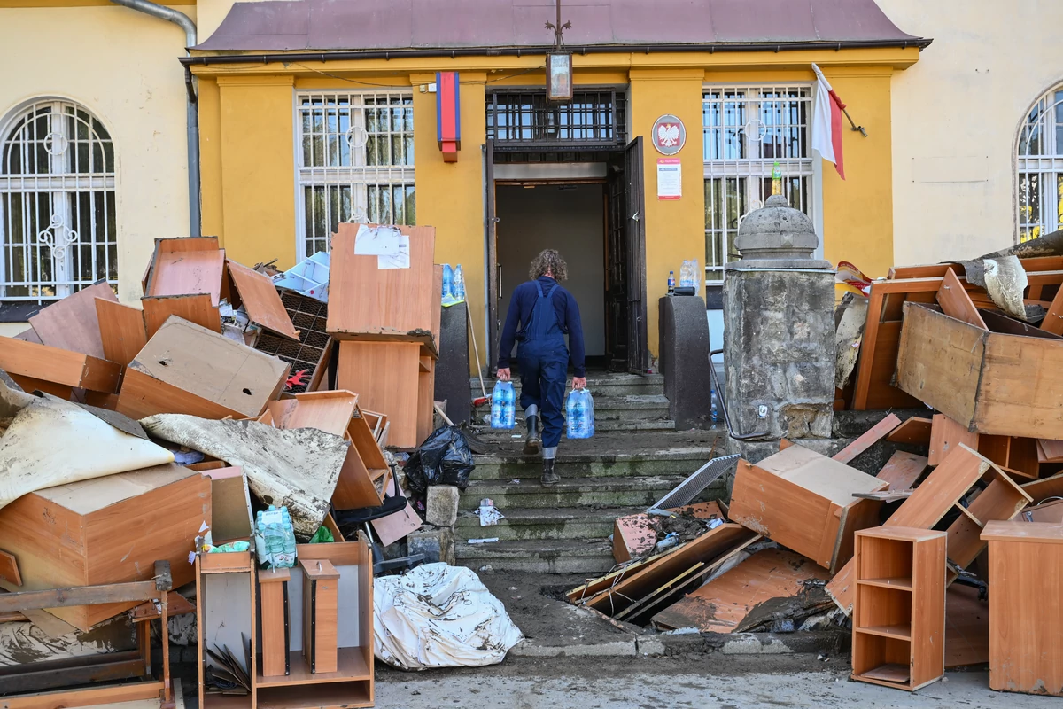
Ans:
[{"label": "arched window cut off by the photo's right edge", "polygon": [[1018,131],[1018,240],[1063,229],[1063,84],[1042,96]]}]

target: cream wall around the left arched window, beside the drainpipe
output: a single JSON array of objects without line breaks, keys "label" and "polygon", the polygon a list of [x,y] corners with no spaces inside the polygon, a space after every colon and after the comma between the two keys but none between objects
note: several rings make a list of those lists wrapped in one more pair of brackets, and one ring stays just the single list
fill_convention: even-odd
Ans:
[{"label": "cream wall around the left arched window, beside the drainpipe", "polygon": [[[178,10],[196,18],[195,6]],[[27,101],[56,97],[92,112],[114,141],[118,297],[125,303],[139,302],[154,239],[188,235],[185,83],[178,63],[184,45],[176,24],[117,5],[0,5],[6,57],[0,121]]]}]

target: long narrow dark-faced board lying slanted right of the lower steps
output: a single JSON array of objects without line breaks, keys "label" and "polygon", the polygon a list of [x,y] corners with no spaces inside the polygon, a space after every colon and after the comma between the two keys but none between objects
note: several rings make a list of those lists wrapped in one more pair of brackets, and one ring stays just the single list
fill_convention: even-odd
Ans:
[{"label": "long narrow dark-faced board lying slanted right of the lower steps", "polygon": [[722,524],[658,557],[656,562],[641,565],[637,572],[609,585],[585,605],[606,615],[614,615],[695,563],[712,565],[721,557],[744,548],[758,539],[759,535],[741,525]]}]

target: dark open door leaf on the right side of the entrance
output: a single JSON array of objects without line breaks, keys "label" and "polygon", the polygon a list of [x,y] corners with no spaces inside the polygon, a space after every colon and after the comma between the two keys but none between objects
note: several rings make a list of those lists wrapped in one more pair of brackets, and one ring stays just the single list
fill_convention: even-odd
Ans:
[{"label": "dark open door leaf on the right side of the entrance", "polygon": [[[645,374],[649,368],[646,348],[646,229],[643,189],[642,136],[624,149],[624,241],[627,256],[627,369]],[[621,251],[618,249],[618,251]]]}]

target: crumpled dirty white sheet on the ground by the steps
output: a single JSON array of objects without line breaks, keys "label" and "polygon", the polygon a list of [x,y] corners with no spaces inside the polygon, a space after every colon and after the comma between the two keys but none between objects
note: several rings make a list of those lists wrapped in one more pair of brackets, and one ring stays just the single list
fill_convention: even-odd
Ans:
[{"label": "crumpled dirty white sheet on the ground by the steps", "polygon": [[427,563],[373,579],[373,651],[401,670],[496,664],[524,640],[471,569]]}]

